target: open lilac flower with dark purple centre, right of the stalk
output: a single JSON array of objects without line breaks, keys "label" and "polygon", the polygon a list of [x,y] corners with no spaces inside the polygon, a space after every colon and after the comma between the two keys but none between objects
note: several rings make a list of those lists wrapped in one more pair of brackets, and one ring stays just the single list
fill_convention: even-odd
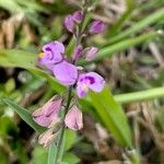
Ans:
[{"label": "open lilac flower with dark purple centre, right of the stalk", "polygon": [[77,93],[79,97],[86,96],[89,89],[93,90],[94,92],[101,92],[105,86],[104,79],[95,73],[89,72],[79,75],[78,83],[77,83]]}]

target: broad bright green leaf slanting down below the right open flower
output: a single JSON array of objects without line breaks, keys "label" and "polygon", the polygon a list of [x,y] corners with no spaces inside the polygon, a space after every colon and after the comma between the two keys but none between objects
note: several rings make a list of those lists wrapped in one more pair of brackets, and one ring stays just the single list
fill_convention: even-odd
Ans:
[{"label": "broad bright green leaf slanting down below the right open flower", "polygon": [[131,132],[126,115],[121,106],[115,102],[109,89],[105,87],[99,94],[91,92],[90,96],[102,122],[113,133],[118,143],[122,147],[132,147]]}]

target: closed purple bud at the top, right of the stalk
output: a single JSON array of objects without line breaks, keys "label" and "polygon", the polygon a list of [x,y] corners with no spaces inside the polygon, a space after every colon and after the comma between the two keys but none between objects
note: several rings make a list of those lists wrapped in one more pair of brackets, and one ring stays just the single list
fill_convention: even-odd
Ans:
[{"label": "closed purple bud at the top, right of the stalk", "polygon": [[93,21],[90,26],[91,34],[98,34],[105,31],[105,24],[102,21]]}]

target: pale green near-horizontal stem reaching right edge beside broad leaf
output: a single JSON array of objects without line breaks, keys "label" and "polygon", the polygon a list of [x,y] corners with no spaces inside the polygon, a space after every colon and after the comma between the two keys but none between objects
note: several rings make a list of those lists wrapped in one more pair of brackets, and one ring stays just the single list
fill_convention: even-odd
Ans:
[{"label": "pale green near-horizontal stem reaching right edge beside broad leaf", "polygon": [[164,97],[164,86],[140,91],[140,92],[115,95],[114,97],[118,103],[121,104]]}]

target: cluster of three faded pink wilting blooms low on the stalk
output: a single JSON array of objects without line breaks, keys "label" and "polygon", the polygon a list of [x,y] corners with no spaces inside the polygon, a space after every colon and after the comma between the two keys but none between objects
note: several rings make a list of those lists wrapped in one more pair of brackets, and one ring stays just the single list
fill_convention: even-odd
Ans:
[{"label": "cluster of three faded pink wilting blooms low on the stalk", "polygon": [[[61,108],[62,98],[60,96],[54,96],[32,115],[38,125],[48,128],[48,130],[38,138],[38,142],[44,144],[44,147],[48,147],[58,137],[58,131],[62,125],[61,119],[58,117]],[[65,125],[72,130],[82,129],[82,113],[75,105],[67,113]]]}]

